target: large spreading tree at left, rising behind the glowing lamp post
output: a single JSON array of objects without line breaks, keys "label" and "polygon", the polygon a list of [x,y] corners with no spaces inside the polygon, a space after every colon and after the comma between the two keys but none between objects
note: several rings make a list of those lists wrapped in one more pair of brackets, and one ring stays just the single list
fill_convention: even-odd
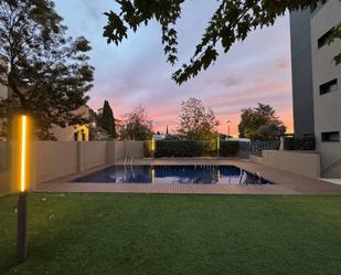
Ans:
[{"label": "large spreading tree at left, rising behind the glowing lamp post", "polygon": [[35,118],[38,135],[52,139],[53,124],[84,123],[75,110],[92,88],[93,71],[85,38],[72,39],[50,0],[0,1],[0,83],[10,96],[0,116],[18,112]]}]

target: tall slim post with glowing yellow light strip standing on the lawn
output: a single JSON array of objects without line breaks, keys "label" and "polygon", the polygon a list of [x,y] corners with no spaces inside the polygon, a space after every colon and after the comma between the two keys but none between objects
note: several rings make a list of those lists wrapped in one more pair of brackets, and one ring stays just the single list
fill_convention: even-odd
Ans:
[{"label": "tall slim post with glowing yellow light strip standing on the lawn", "polygon": [[19,130],[20,156],[20,193],[18,199],[18,234],[17,234],[17,262],[21,264],[26,260],[26,159],[28,159],[28,116],[20,117]]}]

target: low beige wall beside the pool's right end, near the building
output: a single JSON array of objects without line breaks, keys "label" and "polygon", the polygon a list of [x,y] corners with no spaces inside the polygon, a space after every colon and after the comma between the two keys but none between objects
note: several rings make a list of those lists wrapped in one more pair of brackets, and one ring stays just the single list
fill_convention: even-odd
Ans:
[{"label": "low beige wall beside the pool's right end, near the building", "polygon": [[316,152],[264,150],[263,157],[251,156],[251,161],[310,178],[321,173],[320,156]]}]

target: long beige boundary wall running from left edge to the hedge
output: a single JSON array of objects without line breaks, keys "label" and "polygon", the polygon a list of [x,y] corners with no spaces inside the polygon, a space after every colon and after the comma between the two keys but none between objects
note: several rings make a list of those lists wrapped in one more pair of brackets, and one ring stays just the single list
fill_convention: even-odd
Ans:
[{"label": "long beige boundary wall running from left edge to the hedge", "polygon": [[[81,172],[94,167],[115,163],[128,156],[143,158],[142,141],[35,141],[31,144],[29,182],[45,181]],[[12,148],[13,149],[13,148]],[[0,142],[0,195],[15,192],[9,167],[9,142]],[[18,189],[18,187],[17,187]],[[18,190],[17,190],[18,191]]]}]

